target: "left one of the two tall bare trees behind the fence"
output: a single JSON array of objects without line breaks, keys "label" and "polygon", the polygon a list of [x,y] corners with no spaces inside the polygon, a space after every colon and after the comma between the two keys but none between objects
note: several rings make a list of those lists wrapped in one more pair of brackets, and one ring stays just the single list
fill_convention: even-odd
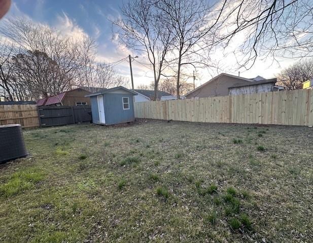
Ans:
[{"label": "left one of the two tall bare trees behind the fence", "polygon": [[154,99],[164,62],[172,42],[171,25],[163,21],[163,13],[155,0],[129,0],[121,8],[123,17],[114,21],[119,41],[137,52],[146,54],[154,77]]}]

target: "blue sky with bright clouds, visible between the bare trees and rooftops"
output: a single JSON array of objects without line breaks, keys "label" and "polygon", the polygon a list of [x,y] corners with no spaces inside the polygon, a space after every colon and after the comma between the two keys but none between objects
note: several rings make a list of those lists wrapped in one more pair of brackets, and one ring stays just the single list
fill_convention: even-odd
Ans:
[{"label": "blue sky with bright clouds, visible between the bare trees and rooftops", "polygon": [[[34,22],[47,24],[63,34],[88,35],[96,41],[97,59],[111,63],[128,55],[136,55],[113,38],[111,20],[120,16],[119,8],[122,5],[122,0],[12,0],[11,9],[5,18],[23,16]],[[219,61],[222,67],[219,72],[237,75],[240,71],[240,76],[247,78],[257,75],[265,78],[274,77],[282,68],[293,62],[290,59],[281,59],[279,64],[272,63],[271,60],[257,60],[250,70],[242,68],[234,70],[235,57],[224,57],[222,53],[216,54],[216,57],[220,57]],[[142,63],[148,62],[143,55],[139,55],[136,60]],[[152,73],[147,66],[133,62],[132,67],[135,88],[138,85],[149,85],[152,82]],[[130,80],[128,62],[123,61],[115,68],[121,75],[129,77]],[[193,69],[190,68],[187,72],[192,75]],[[210,69],[198,69],[197,73],[196,86],[207,82],[218,74],[216,70]],[[192,79],[190,79],[191,81]]]}]

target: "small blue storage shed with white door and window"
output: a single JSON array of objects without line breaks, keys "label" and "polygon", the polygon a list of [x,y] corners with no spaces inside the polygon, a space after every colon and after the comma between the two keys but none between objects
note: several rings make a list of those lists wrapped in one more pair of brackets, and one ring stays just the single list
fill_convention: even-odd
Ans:
[{"label": "small blue storage shed with white door and window", "polygon": [[92,122],[113,125],[134,121],[134,95],[137,93],[122,86],[86,95],[90,97]]}]

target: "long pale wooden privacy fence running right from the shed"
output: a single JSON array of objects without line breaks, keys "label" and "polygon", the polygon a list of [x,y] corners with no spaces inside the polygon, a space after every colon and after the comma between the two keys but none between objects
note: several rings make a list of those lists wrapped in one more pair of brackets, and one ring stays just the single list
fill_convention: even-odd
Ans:
[{"label": "long pale wooden privacy fence running right from the shed", "polygon": [[313,125],[313,90],[134,103],[135,117],[203,123]]}]

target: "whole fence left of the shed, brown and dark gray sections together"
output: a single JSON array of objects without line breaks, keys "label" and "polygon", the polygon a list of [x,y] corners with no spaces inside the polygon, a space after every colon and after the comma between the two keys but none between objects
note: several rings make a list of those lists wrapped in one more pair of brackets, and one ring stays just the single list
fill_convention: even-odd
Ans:
[{"label": "whole fence left of the shed, brown and dark gray sections together", "polygon": [[89,105],[37,106],[0,105],[0,125],[20,124],[23,128],[51,127],[91,121]]}]

